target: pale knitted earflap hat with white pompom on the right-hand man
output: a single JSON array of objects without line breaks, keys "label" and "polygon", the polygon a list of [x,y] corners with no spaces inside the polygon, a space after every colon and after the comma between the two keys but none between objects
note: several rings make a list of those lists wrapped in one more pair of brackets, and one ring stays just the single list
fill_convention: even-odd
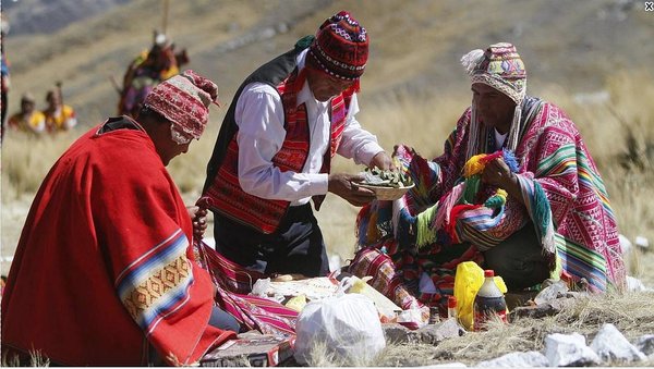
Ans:
[{"label": "pale knitted earflap hat with white pompom on the right-hand man", "polygon": [[[485,51],[472,50],[461,58],[461,64],[470,75],[471,84],[481,83],[488,85],[508,96],[516,102],[513,122],[509,132],[508,148],[512,151],[518,146],[518,134],[520,132],[520,115],[522,114],[522,101],[526,96],[526,70],[520,59],[516,47],[508,42],[491,45]],[[481,153],[481,140],[485,135],[479,136],[475,107],[472,107],[471,134],[468,147],[468,157]]]}]

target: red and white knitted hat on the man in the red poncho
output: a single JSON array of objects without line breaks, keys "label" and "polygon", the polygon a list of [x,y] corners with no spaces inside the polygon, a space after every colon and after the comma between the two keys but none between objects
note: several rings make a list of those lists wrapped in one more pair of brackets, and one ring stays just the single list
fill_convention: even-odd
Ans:
[{"label": "red and white knitted hat on the man in the red poncho", "polygon": [[218,86],[185,71],[157,85],[144,104],[171,121],[184,134],[199,139],[209,119],[209,104],[218,101]]}]

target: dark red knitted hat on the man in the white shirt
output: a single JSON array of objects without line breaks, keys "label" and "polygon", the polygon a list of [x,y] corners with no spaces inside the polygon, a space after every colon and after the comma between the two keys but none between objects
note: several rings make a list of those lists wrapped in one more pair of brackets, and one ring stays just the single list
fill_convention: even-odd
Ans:
[{"label": "dark red knitted hat on the man in the white shirt", "polygon": [[320,25],[308,56],[330,75],[359,79],[367,62],[367,33],[350,13],[340,11]]}]

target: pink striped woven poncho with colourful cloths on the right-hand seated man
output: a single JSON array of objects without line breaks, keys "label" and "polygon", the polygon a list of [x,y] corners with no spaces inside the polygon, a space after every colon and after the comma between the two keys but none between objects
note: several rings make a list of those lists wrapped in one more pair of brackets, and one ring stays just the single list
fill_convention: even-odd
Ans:
[{"label": "pink striped woven poncho with colourful cloths on the right-hand seated man", "polygon": [[[462,198],[470,197],[465,187],[471,181],[463,175],[469,161],[468,109],[444,153],[433,161],[405,146],[396,149],[395,157],[416,186],[400,200],[375,201],[361,210],[362,248],[350,270],[375,276],[373,285],[403,307],[414,304],[415,296],[437,305],[451,294],[457,265],[482,263],[483,250],[531,220],[544,255],[550,260],[557,256],[564,278],[584,279],[595,292],[609,284],[621,286],[625,266],[614,212],[579,131],[561,109],[540,99],[526,98],[522,111],[513,171],[526,206],[510,197],[491,205],[498,189],[476,183],[472,206],[460,207]],[[481,153],[496,151],[491,134],[482,132],[489,139]],[[416,295],[423,273],[432,278],[436,293]]]}]

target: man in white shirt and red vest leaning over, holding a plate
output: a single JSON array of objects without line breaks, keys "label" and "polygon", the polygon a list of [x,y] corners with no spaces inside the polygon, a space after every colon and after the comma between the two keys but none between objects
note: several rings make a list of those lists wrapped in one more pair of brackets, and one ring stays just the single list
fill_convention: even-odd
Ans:
[{"label": "man in white shirt and red vest leaning over, holding a plate", "polygon": [[198,201],[214,212],[220,254],[265,273],[329,272],[310,199],[316,210],[328,192],[354,206],[374,199],[360,175],[330,173],[331,157],[392,169],[355,119],[367,54],[365,28],[341,11],[241,85]]}]

